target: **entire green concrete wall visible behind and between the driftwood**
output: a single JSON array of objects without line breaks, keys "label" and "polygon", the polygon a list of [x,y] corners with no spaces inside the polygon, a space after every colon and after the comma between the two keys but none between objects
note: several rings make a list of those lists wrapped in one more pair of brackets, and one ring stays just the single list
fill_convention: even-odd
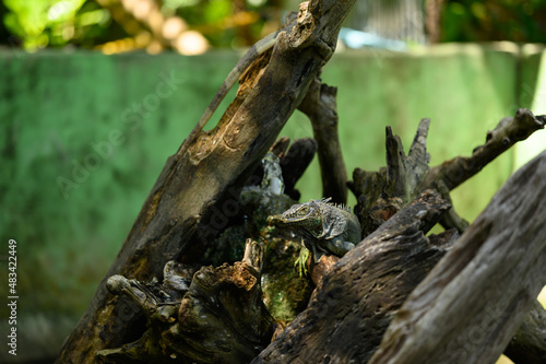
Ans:
[{"label": "entire green concrete wall visible behind and between the driftwood", "polygon": [[[407,149],[423,117],[431,118],[432,165],[470,154],[500,118],[538,105],[535,94],[544,96],[537,90],[546,83],[536,81],[542,49],[524,50],[511,44],[446,45],[412,54],[334,55],[322,79],[339,87],[349,175],[355,167],[384,165],[385,126]],[[239,56],[0,52],[0,236],[4,249],[9,238],[17,240],[22,317],[83,313],[167,156]],[[282,134],[312,132],[296,114]],[[514,153],[506,153],[458,188],[458,211],[473,220],[514,165]],[[320,196],[319,178],[313,161],[298,185],[304,200]],[[5,282],[5,259],[1,265]],[[7,314],[2,305],[1,317]],[[27,331],[41,334],[36,327]]]}]

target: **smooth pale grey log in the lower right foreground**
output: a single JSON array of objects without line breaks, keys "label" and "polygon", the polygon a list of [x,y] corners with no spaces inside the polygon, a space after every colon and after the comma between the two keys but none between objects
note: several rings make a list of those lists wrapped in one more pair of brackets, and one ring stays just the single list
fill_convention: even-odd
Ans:
[{"label": "smooth pale grey log in the lower right foreground", "polygon": [[543,152],[414,290],[370,364],[494,363],[546,283],[545,197]]}]

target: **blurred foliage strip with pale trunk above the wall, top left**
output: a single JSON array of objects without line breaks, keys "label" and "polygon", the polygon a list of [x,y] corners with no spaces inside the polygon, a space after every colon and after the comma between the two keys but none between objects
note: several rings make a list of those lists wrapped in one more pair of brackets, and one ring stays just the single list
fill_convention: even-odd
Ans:
[{"label": "blurred foliage strip with pale trunk above the wall, top left", "polygon": [[107,54],[199,54],[253,44],[278,26],[280,0],[3,0],[1,43],[34,51],[73,45]]}]

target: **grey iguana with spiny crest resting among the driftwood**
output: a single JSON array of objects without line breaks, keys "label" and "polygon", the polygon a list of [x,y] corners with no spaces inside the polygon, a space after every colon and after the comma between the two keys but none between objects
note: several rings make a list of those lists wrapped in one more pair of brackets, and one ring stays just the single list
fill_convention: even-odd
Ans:
[{"label": "grey iguana with spiny crest resting among the driftwood", "polygon": [[317,263],[324,254],[343,256],[360,242],[360,223],[351,211],[330,199],[295,204],[270,223],[295,230]]}]

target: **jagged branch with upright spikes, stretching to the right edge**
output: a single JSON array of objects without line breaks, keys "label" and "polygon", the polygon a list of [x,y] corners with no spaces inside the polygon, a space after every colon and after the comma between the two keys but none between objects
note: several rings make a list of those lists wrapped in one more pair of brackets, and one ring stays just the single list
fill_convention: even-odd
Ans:
[{"label": "jagged branch with upright spikes, stretching to the right edge", "polygon": [[[495,130],[487,133],[487,142],[477,146],[468,157],[456,157],[434,168],[428,167],[426,136],[429,120],[419,124],[416,137],[406,157],[400,138],[387,134],[387,168],[379,172],[355,169],[349,184],[358,199],[355,213],[360,218],[363,231],[369,234],[383,221],[408,203],[416,193],[436,189],[451,201],[449,192],[461,185],[515,142],[543,129],[546,116],[533,116],[527,109],[519,109],[515,116],[503,118]],[[420,142],[419,142],[420,141]],[[414,152],[412,152],[414,151]],[[451,209],[440,221],[444,228],[460,232],[468,223]]]}]

